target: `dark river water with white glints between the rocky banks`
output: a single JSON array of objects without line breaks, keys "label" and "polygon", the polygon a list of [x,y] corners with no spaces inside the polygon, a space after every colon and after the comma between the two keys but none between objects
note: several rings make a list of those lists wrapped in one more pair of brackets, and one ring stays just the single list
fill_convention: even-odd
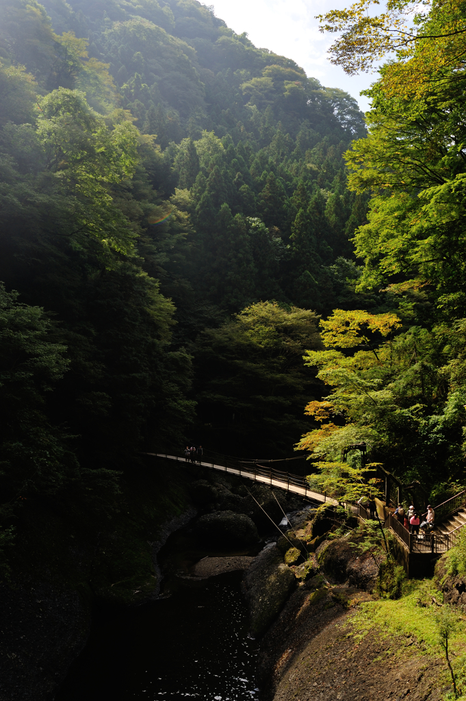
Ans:
[{"label": "dark river water with white glints between the rocky banks", "polygon": [[100,607],[88,644],[71,665],[56,701],[259,697],[254,683],[257,644],[248,637],[242,572],[184,579],[180,575],[189,564],[205,554],[223,553],[186,550],[190,544],[183,533],[169,540],[166,598],[135,608]]}]

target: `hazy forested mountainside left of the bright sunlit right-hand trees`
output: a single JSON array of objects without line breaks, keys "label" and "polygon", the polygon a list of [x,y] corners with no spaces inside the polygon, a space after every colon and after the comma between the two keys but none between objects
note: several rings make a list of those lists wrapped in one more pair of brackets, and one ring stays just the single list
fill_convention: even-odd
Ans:
[{"label": "hazy forested mountainside left of the bright sunlit right-hand trees", "polygon": [[181,442],[196,402],[288,453],[315,311],[359,274],[355,100],[197,2],[4,1],[0,34],[9,498]]}]

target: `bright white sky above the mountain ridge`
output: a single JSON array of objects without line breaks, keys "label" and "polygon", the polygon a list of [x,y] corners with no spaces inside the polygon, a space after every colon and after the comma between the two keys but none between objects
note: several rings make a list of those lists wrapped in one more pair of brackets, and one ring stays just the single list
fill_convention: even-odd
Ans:
[{"label": "bright white sky above the mountain ridge", "polygon": [[327,50],[335,34],[320,34],[315,15],[342,9],[351,0],[205,0],[214,6],[217,17],[225,20],[237,34],[247,32],[258,48],[292,58],[327,88],[341,88],[359,102],[365,111],[366,97],[359,92],[369,88],[377,74],[347,76],[342,68],[329,62]]}]

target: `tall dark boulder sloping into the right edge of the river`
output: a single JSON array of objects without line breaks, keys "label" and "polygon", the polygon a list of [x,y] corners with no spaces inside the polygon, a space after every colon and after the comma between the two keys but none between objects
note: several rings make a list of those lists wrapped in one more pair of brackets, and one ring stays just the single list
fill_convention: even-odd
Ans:
[{"label": "tall dark boulder sloping into the right edge of the river", "polygon": [[294,574],[283,562],[282,554],[275,545],[266,546],[254,558],[244,580],[251,633],[254,637],[266,632],[282,610],[295,584]]}]

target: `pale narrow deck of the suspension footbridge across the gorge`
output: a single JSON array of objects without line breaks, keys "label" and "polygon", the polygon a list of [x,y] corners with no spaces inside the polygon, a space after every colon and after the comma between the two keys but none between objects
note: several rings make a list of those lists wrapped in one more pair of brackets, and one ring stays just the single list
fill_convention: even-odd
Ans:
[{"label": "pale narrow deck of the suspension footbridge across the gorge", "polygon": [[[146,453],[146,455],[153,455],[156,458],[165,458],[166,460],[174,460],[177,463],[185,463],[186,458],[179,457],[177,455],[167,455],[165,453]],[[215,463],[207,463],[201,461],[200,463],[196,461],[196,465],[202,465],[204,468],[210,468],[211,470],[219,470],[221,472],[228,472],[230,475],[238,475],[238,477],[245,477],[246,479],[252,479],[254,482],[261,482],[262,484],[268,484],[269,486],[276,486],[278,489],[285,489],[285,491],[290,491],[292,494],[298,494],[304,498],[316,501],[317,503],[330,503],[337,506],[338,501],[327,497],[325,494],[321,494],[318,491],[313,491],[309,489],[306,483],[306,477],[297,477],[296,475],[288,475],[287,477],[280,477],[276,472],[270,469],[270,474],[265,474],[267,470],[265,468],[254,469],[253,466],[248,468],[241,468],[240,466],[227,466],[227,465],[217,465]],[[275,474],[274,474],[275,472]],[[302,482],[302,484],[296,484],[296,482]]]}]

